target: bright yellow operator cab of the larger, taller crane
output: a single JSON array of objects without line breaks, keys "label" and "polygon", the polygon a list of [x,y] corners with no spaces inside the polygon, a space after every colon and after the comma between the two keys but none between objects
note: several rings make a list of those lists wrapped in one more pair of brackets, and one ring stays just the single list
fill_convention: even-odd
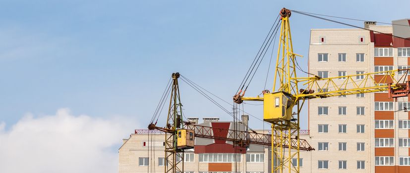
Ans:
[{"label": "bright yellow operator cab of the larger, taller crane", "polygon": [[283,91],[263,95],[263,120],[274,123],[292,119],[295,97]]}]

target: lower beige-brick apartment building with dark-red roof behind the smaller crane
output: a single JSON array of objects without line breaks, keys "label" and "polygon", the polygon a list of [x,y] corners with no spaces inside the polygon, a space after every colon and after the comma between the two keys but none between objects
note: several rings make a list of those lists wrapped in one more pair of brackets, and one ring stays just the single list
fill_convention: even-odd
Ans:
[{"label": "lower beige-brick apartment building with dark-red roof behind the smaller crane", "polygon": [[[247,116],[242,116],[247,122]],[[198,124],[198,118],[190,118]],[[234,129],[234,122],[204,118],[200,126]],[[245,130],[236,122],[236,129]],[[264,132],[263,130],[258,130]],[[270,132],[268,130],[265,131]],[[213,135],[227,137],[218,130]],[[123,139],[119,148],[119,173],[164,173],[165,133],[158,130],[135,130]],[[269,147],[250,145],[234,147],[231,141],[195,137],[195,146],[184,152],[184,173],[265,173],[270,172]]]}]

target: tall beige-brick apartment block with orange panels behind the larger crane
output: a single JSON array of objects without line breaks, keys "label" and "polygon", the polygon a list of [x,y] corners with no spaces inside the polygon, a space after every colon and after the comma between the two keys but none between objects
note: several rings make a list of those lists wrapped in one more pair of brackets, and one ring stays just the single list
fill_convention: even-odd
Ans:
[{"label": "tall beige-brick apartment block with orange panels behind the larger crane", "polygon": [[[410,41],[392,37],[410,38],[410,20],[392,24],[365,22],[376,32],[312,29],[309,73],[327,78],[410,68]],[[403,75],[399,72],[396,80]],[[394,102],[387,92],[309,100],[310,144],[317,149],[311,153],[311,172],[409,173],[408,104],[408,97]]]}]

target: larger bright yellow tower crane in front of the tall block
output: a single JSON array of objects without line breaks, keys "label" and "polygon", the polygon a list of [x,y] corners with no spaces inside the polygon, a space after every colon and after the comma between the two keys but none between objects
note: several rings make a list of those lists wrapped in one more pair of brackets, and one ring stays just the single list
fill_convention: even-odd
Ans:
[{"label": "larger bright yellow tower crane in front of the tall block", "polygon": [[[244,97],[246,89],[243,91],[241,89],[234,95],[234,102],[240,104],[247,100],[263,101],[263,120],[272,124],[272,134],[276,134],[272,135],[271,172],[299,173],[299,114],[305,100],[386,90],[389,92],[389,98],[408,96],[410,93],[407,81],[409,69],[334,78],[320,78],[316,75],[298,78],[296,57],[302,56],[293,52],[289,23],[291,10],[283,8],[280,16],[281,31],[275,66],[274,92],[264,90],[262,91],[263,97]],[[394,77],[398,71],[404,71],[405,75],[396,80]],[[360,78],[356,78],[357,76]],[[304,89],[298,89],[299,83]],[[284,144],[292,143],[293,139],[296,139],[296,145],[285,149]],[[293,158],[297,158],[297,165],[292,164]],[[274,163],[275,160],[277,163]]]}]

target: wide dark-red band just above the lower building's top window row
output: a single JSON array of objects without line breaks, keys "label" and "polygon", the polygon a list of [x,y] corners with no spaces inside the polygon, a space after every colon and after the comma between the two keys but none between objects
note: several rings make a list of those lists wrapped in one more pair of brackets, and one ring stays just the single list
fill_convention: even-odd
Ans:
[{"label": "wide dark-red band just above the lower building's top window row", "polygon": [[246,153],[246,148],[227,143],[213,143],[209,145],[195,145],[195,154],[199,153]]}]

